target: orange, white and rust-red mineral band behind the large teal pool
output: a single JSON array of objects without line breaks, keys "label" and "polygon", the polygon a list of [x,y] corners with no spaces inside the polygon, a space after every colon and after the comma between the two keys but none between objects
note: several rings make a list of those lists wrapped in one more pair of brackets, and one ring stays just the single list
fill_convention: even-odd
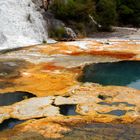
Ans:
[{"label": "orange, white and rust-red mineral band behind the large teal pool", "polygon": [[[80,42],[82,44],[82,41]],[[44,45],[39,52],[48,55],[65,54],[65,55],[102,55],[111,56],[120,59],[136,59],[140,54],[139,41],[83,41],[84,48],[74,42],[56,43],[53,45]]]}]

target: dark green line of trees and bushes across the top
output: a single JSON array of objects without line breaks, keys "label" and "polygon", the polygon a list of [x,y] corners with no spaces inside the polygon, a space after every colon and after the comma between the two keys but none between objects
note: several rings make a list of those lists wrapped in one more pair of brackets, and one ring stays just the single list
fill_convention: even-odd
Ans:
[{"label": "dark green line of trees and bushes across the top", "polygon": [[140,27],[140,0],[54,0],[50,9],[56,18],[79,30],[87,26],[91,30],[93,21],[101,30],[112,25]]}]

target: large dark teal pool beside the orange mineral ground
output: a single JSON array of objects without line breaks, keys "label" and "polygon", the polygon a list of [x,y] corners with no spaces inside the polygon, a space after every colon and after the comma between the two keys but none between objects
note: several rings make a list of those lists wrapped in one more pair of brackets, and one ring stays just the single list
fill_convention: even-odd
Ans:
[{"label": "large dark teal pool beside the orange mineral ground", "polygon": [[140,89],[140,62],[122,61],[88,65],[84,68],[80,80]]}]

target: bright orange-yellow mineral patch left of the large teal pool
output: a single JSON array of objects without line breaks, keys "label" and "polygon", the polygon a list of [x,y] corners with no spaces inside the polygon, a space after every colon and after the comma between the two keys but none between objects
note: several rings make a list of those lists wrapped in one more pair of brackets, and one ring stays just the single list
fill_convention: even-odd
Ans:
[{"label": "bright orange-yellow mineral patch left of the large teal pool", "polygon": [[[61,95],[77,83],[78,72],[53,64],[32,64],[19,69],[19,77],[1,79],[0,84],[5,83],[5,87],[0,89],[0,93],[26,91],[36,96]],[[6,83],[11,83],[11,86],[7,87]]]}]

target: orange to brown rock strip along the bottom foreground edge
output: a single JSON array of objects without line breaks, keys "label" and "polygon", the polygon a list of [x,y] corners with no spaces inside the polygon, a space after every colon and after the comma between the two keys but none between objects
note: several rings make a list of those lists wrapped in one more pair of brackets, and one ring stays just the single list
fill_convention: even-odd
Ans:
[{"label": "orange to brown rock strip along the bottom foreground edge", "polygon": [[[139,121],[121,125],[119,125],[117,122],[113,123],[113,121],[112,123],[106,122],[106,124],[101,124],[97,123],[96,118],[93,120],[93,118],[88,116],[51,117],[27,121],[26,123],[16,126],[12,130],[1,132],[0,137],[2,140],[30,138],[37,138],[39,140],[44,140],[45,138],[59,138],[65,140],[65,137],[67,139],[68,134],[70,134],[70,139],[83,138],[84,134],[86,139],[90,137],[96,138],[97,140],[102,140],[102,137],[107,136],[108,139],[115,139],[118,138],[119,135],[120,138],[126,138],[126,135],[128,135],[127,138],[135,137],[136,140],[138,140],[140,134],[139,124]],[[127,132],[128,130],[132,132]],[[126,131],[125,136],[122,135],[124,131]]]}]

